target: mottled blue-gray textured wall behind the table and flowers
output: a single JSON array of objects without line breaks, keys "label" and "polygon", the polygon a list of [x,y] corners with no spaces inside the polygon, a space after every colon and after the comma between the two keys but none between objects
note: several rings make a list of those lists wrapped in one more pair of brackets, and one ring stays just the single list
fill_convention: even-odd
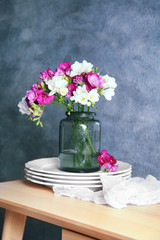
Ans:
[{"label": "mottled blue-gray textured wall behind the table and flowers", "polygon": [[[57,156],[63,110],[48,106],[40,128],[17,104],[40,71],[83,59],[118,84],[113,100],[98,104],[102,148],[130,162],[134,176],[160,179],[160,2],[1,0],[0,181],[23,178],[29,160]],[[29,219],[24,239],[60,235],[59,228]]]}]

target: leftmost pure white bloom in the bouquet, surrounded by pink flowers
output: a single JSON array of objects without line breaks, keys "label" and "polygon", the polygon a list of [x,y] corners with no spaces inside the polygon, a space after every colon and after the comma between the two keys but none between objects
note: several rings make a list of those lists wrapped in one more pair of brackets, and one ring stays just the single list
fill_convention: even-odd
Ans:
[{"label": "leftmost pure white bloom in the bouquet, surrounded by pink flowers", "polygon": [[[51,80],[46,82],[46,84],[48,85],[49,90],[51,90],[51,92],[49,93],[49,96],[51,96],[55,93],[60,93],[61,91],[66,89],[68,82],[63,79],[62,76],[54,76]],[[67,94],[68,91],[64,90],[64,92],[66,92]]]}]

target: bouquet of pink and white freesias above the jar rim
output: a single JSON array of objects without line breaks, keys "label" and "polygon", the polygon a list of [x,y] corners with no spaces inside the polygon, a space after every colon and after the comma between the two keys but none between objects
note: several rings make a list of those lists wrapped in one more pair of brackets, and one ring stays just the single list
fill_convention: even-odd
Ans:
[{"label": "bouquet of pink and white freesias above the jar rim", "polygon": [[41,72],[39,82],[34,83],[18,107],[28,119],[43,127],[41,121],[45,106],[57,105],[68,115],[71,112],[90,112],[101,95],[111,100],[117,84],[113,77],[101,75],[98,68],[87,61],[82,63],[62,62],[52,71],[50,68]]}]

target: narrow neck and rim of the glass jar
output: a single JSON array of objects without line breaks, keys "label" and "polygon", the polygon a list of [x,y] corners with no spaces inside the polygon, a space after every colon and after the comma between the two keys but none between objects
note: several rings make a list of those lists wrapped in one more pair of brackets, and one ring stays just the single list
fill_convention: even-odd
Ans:
[{"label": "narrow neck and rim of the glass jar", "polygon": [[70,114],[68,115],[68,113],[66,112],[67,118],[70,119],[94,119],[96,113],[95,112],[70,112]]}]

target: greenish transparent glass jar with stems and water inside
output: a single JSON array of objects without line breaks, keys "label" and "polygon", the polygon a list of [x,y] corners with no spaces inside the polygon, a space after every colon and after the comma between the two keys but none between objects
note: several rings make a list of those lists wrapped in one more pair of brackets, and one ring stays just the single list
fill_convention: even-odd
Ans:
[{"label": "greenish transparent glass jar with stems and water inside", "polygon": [[99,170],[101,125],[94,112],[71,112],[59,126],[59,169],[68,172]]}]

